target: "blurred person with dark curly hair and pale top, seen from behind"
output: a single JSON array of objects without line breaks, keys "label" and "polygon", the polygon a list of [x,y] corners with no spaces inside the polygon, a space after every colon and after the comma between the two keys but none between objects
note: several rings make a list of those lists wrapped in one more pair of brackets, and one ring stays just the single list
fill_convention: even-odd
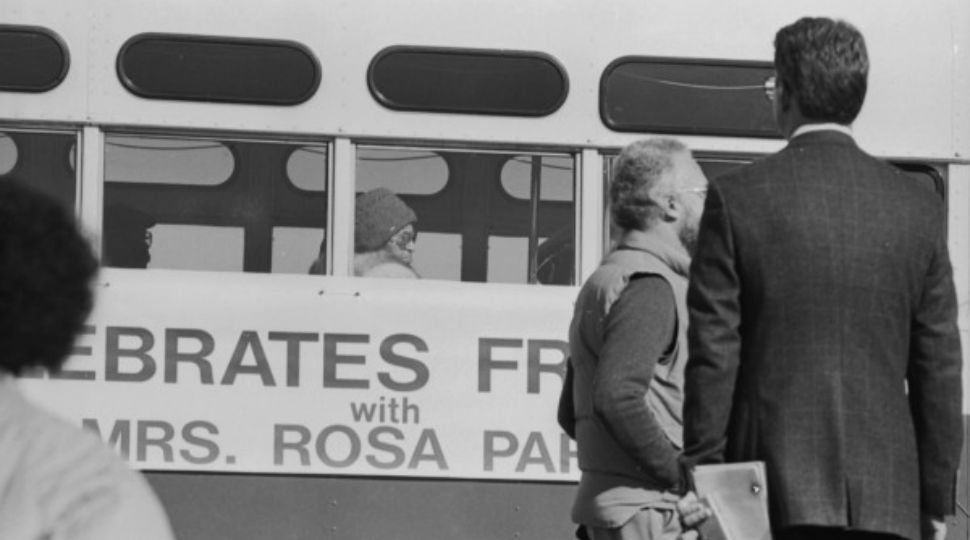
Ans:
[{"label": "blurred person with dark curly hair and pale top, seen from behind", "polygon": [[144,478],[92,434],[25,399],[16,377],[58,371],[93,303],[97,262],[47,196],[0,182],[0,538],[169,540]]}]

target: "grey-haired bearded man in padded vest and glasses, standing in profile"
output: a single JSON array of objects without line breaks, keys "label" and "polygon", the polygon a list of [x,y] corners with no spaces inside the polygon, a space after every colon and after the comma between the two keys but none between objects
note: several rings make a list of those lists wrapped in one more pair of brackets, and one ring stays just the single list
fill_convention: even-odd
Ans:
[{"label": "grey-haired bearded man in padded vest and glasses, standing in profile", "polygon": [[614,163],[616,246],[586,281],[569,329],[559,422],[582,476],[577,536],[673,540],[687,362],[687,272],[707,179],[673,139],[628,145]]}]

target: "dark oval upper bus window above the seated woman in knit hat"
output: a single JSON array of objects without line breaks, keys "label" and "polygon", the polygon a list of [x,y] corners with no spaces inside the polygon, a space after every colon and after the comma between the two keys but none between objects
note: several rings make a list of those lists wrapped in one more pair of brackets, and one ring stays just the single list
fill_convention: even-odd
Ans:
[{"label": "dark oval upper bus window above the seated woman in knit hat", "polygon": [[543,53],[391,47],[367,71],[371,94],[391,109],[545,116],[566,100],[566,72]]}]

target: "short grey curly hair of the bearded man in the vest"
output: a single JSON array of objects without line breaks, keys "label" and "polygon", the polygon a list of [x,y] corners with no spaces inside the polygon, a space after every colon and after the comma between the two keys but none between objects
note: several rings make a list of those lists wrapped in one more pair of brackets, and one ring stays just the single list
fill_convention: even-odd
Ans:
[{"label": "short grey curly hair of the bearded man in the vest", "polygon": [[688,151],[680,141],[661,137],[635,141],[620,152],[610,183],[610,214],[617,227],[643,231],[660,219],[663,209],[650,190],[674,166],[672,156]]}]

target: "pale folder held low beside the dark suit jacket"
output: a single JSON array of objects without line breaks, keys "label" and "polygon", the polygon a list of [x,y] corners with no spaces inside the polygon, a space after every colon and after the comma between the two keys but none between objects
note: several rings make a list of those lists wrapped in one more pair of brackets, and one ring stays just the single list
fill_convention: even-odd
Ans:
[{"label": "pale folder held low beside the dark suit jacket", "polygon": [[771,540],[763,462],[698,465],[691,474],[698,498],[711,510],[698,526],[703,540]]}]

